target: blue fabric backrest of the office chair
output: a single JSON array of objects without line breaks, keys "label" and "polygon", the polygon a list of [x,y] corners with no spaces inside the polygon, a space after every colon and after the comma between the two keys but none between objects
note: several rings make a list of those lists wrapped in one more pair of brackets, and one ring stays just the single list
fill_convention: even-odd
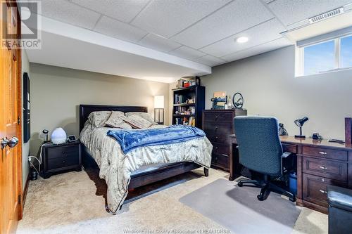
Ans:
[{"label": "blue fabric backrest of the office chair", "polygon": [[239,162],[253,171],[279,176],[282,145],[278,128],[275,117],[235,117],[234,132],[239,147]]}]

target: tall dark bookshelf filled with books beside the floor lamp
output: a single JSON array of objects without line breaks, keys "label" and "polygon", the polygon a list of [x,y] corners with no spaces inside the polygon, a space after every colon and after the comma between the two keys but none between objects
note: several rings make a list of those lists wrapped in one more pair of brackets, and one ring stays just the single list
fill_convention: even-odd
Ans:
[{"label": "tall dark bookshelf filled with books beside the floor lamp", "polygon": [[186,124],[201,128],[202,110],[206,105],[206,87],[194,85],[172,89],[172,92],[172,124]]}]

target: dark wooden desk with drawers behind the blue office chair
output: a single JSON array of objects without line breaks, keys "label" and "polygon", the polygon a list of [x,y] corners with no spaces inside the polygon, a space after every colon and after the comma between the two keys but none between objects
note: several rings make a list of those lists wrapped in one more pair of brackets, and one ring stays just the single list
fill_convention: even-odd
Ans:
[{"label": "dark wooden desk with drawers behind the blue office chair", "polygon": [[[327,185],[352,188],[352,146],[312,138],[298,139],[280,136],[284,152],[297,157],[297,201],[327,214]],[[234,149],[236,136],[229,135],[230,180],[240,176],[238,154]]]}]

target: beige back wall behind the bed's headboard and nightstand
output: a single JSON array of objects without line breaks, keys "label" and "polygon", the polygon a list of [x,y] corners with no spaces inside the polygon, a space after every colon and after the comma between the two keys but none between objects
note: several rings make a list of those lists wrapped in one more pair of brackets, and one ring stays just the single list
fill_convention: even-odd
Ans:
[{"label": "beige back wall behind the bed's headboard and nightstand", "polygon": [[153,114],[153,96],[163,95],[168,124],[169,84],[36,63],[30,64],[30,78],[31,155],[37,155],[43,129],[51,134],[53,129],[62,126],[68,135],[78,136],[80,104],[141,105]]}]

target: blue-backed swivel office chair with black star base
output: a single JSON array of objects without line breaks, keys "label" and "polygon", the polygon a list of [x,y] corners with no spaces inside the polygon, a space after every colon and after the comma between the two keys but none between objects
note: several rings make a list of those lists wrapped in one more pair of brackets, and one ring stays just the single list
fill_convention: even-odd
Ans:
[{"label": "blue-backed swivel office chair with black star base", "polygon": [[239,116],[234,118],[234,129],[239,150],[239,162],[252,171],[263,174],[263,180],[241,180],[238,186],[252,183],[261,188],[258,200],[265,200],[270,190],[277,191],[296,201],[294,194],[276,186],[271,179],[284,180],[289,172],[284,161],[291,152],[282,153],[277,119],[274,117]]}]

